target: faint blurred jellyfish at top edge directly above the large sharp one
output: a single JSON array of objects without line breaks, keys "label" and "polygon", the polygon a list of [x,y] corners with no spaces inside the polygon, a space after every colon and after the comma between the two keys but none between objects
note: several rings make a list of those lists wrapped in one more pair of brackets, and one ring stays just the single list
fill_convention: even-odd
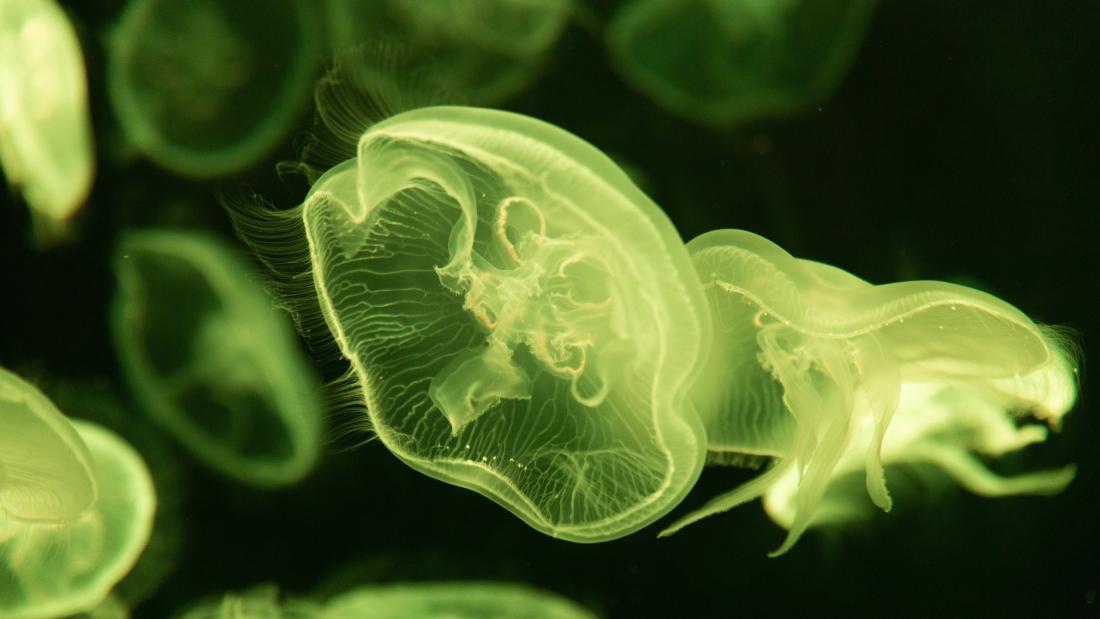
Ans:
[{"label": "faint blurred jellyfish at top edge directly above the large sharp one", "polygon": [[389,41],[465,101],[499,103],[539,74],[573,0],[332,0],[337,51]]}]

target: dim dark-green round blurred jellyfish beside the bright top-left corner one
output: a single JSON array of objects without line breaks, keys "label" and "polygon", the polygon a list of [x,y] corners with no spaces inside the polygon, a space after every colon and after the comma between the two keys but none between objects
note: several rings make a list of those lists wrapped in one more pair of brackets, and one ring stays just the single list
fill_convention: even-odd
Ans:
[{"label": "dim dark-green round blurred jellyfish beside the bright top-left corner one", "polygon": [[320,60],[312,3],[131,0],[108,46],[128,140],[175,173],[244,168],[286,134]]}]

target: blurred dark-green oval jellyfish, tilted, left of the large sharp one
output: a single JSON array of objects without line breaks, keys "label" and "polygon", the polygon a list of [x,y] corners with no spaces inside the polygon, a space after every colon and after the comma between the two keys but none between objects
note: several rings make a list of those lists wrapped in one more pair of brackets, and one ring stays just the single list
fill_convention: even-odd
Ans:
[{"label": "blurred dark-green oval jellyfish, tilted, left of the large sharp one", "polygon": [[294,331],[249,269],[198,233],[118,244],[113,332],[130,388],[201,462],[275,486],[317,461],[321,404]]}]

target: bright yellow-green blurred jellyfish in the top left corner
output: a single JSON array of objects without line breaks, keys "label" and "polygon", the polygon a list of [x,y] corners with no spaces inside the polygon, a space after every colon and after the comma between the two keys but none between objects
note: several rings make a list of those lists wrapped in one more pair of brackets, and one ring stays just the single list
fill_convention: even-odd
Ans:
[{"label": "bright yellow-green blurred jellyfish in the top left corner", "polygon": [[53,0],[0,4],[0,165],[47,226],[68,219],[91,189],[84,56]]}]

